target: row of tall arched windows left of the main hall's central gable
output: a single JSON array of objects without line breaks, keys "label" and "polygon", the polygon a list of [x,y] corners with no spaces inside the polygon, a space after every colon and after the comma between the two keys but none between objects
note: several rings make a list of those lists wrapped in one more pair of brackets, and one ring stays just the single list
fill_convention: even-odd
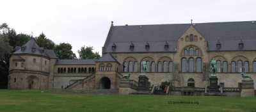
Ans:
[{"label": "row of tall arched windows left of the main hall's central gable", "polygon": [[[155,63],[154,61],[146,61],[147,64],[147,70],[146,72],[173,72],[173,62],[167,62],[167,61],[159,61],[158,63]],[[157,64],[157,68],[156,68]],[[138,62],[132,62],[129,61],[127,63],[126,61],[124,62],[124,72],[141,72],[140,67],[138,67]]]}]

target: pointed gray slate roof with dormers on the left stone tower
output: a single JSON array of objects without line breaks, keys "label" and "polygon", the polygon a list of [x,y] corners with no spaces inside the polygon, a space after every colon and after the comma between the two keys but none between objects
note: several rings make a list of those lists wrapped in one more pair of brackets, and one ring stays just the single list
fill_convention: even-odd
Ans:
[{"label": "pointed gray slate roof with dormers on the left stone tower", "polygon": [[[22,50],[22,47],[24,47],[24,50]],[[25,45],[22,45],[22,47],[16,47],[18,50],[13,52],[13,54],[35,54],[49,58],[57,58],[53,50],[46,50],[39,47],[33,39],[29,40]],[[32,51],[32,48],[35,48],[35,51]]]}]

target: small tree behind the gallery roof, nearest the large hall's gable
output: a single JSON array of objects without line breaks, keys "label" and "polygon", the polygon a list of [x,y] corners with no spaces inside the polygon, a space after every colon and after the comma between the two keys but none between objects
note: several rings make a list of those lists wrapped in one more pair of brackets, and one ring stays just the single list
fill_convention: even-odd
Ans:
[{"label": "small tree behind the gallery roof, nearest the large hall's gable", "polygon": [[99,52],[92,52],[93,51],[93,46],[88,47],[83,45],[80,50],[78,50],[79,54],[79,59],[99,59],[100,54]]}]

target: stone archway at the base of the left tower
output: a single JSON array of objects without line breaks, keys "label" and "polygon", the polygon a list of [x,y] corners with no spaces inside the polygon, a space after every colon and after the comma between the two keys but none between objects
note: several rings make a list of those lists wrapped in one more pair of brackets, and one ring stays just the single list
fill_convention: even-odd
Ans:
[{"label": "stone archway at the base of the left tower", "polygon": [[26,82],[29,90],[39,89],[39,78],[36,76],[28,76]]}]

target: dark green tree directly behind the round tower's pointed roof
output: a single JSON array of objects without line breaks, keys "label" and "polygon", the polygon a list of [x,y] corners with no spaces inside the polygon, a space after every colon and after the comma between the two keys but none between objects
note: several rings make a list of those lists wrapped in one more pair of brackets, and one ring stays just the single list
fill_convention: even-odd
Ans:
[{"label": "dark green tree directly behind the round tower's pointed roof", "polygon": [[54,42],[48,39],[44,33],[41,33],[38,37],[35,37],[35,42],[40,47],[44,47],[44,49],[54,49]]}]

